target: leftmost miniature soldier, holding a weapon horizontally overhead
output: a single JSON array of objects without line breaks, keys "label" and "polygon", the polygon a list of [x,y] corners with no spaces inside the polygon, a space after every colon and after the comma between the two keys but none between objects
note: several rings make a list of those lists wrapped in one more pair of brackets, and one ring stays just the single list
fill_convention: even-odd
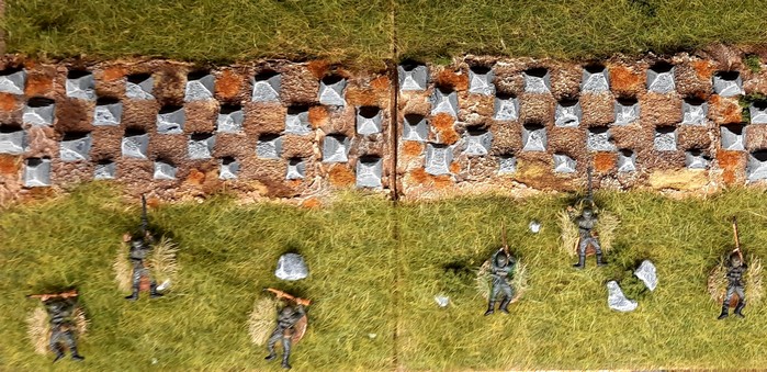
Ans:
[{"label": "leftmost miniature soldier, holding a weapon horizontally overhead", "polygon": [[64,358],[64,348],[61,343],[66,345],[69,349],[72,360],[80,361],[86,359],[77,353],[77,341],[75,339],[76,328],[71,318],[75,312],[75,305],[77,304],[77,300],[75,300],[77,297],[77,291],[71,290],[56,294],[31,294],[27,297],[40,298],[50,317],[50,339],[48,345],[50,350],[56,353],[54,362]]}]

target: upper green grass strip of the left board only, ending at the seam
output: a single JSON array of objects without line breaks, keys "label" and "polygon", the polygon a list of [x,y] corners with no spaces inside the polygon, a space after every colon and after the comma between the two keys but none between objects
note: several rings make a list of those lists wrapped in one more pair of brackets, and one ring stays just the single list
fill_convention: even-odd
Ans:
[{"label": "upper green grass strip of the left board only, ending at the seam", "polygon": [[383,67],[390,1],[9,0],[8,50],[228,63],[328,58]]}]

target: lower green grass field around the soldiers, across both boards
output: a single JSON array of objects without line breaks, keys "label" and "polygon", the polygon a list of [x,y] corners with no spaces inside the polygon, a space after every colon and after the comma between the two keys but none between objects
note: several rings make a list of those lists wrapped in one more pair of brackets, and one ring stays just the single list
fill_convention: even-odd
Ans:
[{"label": "lower green grass field around the soldiers, across both boards", "polygon": [[[744,253],[767,257],[766,191],[733,190],[670,200],[644,192],[597,192],[621,218],[609,266],[577,271],[559,248],[556,213],[568,195],[526,200],[470,198],[394,207],[349,193],[324,210],[273,203],[238,205],[227,196],[150,210],[153,225],[179,244],[178,286],[162,298],[122,297],[112,263],[125,230],[139,221],[106,187],[0,213],[0,365],[47,369],[26,338],[37,301],[24,294],[77,286],[90,319],[87,360],[60,370],[279,370],[248,335],[264,286],[312,298],[309,328],[295,347],[298,371],[762,368],[767,311],[717,320],[707,280],[733,247],[737,215]],[[531,234],[530,219],[542,222]],[[511,314],[483,317],[476,269],[500,245],[527,266],[528,289]],[[297,283],[273,277],[285,251],[312,271]],[[657,266],[654,292],[635,288],[642,259]],[[633,313],[607,307],[605,283],[627,284]],[[439,308],[433,296],[451,304]],[[374,335],[374,336],[373,336]],[[156,361],[156,364],[153,364]]]}]

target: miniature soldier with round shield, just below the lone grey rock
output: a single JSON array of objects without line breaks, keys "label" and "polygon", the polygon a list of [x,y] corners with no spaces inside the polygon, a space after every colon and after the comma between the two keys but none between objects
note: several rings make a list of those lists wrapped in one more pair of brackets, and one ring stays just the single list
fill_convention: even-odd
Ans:
[{"label": "miniature soldier with round shield, just below the lone grey rock", "polygon": [[297,329],[300,328],[298,323],[306,317],[304,306],[308,306],[312,302],[309,300],[294,297],[275,289],[266,289],[266,291],[277,294],[278,300],[284,298],[286,303],[285,306],[277,313],[277,327],[274,327],[272,335],[269,336],[269,341],[267,341],[269,354],[264,359],[273,360],[277,358],[274,345],[277,341],[282,340],[282,368],[290,370],[291,364],[287,363],[287,359],[291,356],[291,343],[294,339],[297,340],[303,336],[305,323],[303,329]]}]

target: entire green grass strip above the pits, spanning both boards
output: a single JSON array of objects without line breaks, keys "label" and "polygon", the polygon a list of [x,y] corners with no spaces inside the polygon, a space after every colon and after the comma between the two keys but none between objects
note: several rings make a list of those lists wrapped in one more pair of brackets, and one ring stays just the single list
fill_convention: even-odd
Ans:
[{"label": "entire green grass strip above the pits, spanning both boards", "polygon": [[[8,0],[8,50],[229,63],[444,63],[465,53],[596,58],[764,43],[764,0]],[[398,55],[394,56],[396,40]]]}]

